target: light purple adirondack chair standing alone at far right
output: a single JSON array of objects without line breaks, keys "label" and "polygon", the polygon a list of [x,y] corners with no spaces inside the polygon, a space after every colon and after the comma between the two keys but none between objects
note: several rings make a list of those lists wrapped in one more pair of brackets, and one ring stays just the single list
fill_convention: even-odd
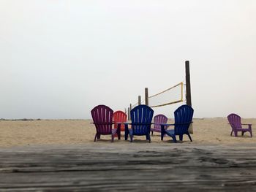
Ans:
[{"label": "light purple adirondack chair standing alone at far right", "polygon": [[[234,132],[235,137],[237,137],[238,131],[241,131],[243,136],[244,133],[248,131],[252,137],[252,124],[242,124],[241,117],[239,115],[236,115],[235,113],[231,113],[230,115],[227,116],[227,120],[230,123],[230,126],[232,128],[230,136],[232,136]],[[242,125],[248,126],[248,128],[242,128]]]}]

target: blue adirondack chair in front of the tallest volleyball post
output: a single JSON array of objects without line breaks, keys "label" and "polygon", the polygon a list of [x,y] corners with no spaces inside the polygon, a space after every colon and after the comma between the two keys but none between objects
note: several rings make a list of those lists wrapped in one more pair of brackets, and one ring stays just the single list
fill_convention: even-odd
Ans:
[{"label": "blue adirondack chair in front of the tallest volleyball post", "polygon": [[[187,104],[181,105],[174,112],[174,124],[161,124],[161,140],[164,139],[165,134],[173,138],[174,142],[177,142],[176,135],[179,136],[180,141],[183,140],[183,135],[187,134],[190,141],[192,142],[192,138],[189,134],[189,125],[192,123],[194,110],[192,107],[189,107]],[[165,130],[165,126],[174,126],[174,129]]]}]

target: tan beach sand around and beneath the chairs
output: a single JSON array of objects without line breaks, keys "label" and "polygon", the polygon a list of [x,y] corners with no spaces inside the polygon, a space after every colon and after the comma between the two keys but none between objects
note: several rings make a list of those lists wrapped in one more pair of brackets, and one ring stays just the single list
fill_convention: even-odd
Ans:
[{"label": "tan beach sand around and beneath the chairs", "polygon": [[[226,118],[203,118],[193,120],[193,142],[184,136],[184,143],[195,145],[242,145],[256,143],[256,137],[230,137],[230,125]],[[252,134],[255,134],[256,119],[243,119],[243,123],[252,123]],[[168,123],[173,123],[169,120]],[[94,142],[95,127],[91,120],[0,120],[0,147],[27,145],[84,145]],[[122,132],[124,135],[124,133]],[[170,137],[160,140],[160,134],[154,133],[152,143],[173,144]],[[103,136],[97,143],[110,142],[110,135]],[[135,143],[146,142],[145,137],[135,136]],[[113,145],[129,145],[129,142],[115,139]]]}]

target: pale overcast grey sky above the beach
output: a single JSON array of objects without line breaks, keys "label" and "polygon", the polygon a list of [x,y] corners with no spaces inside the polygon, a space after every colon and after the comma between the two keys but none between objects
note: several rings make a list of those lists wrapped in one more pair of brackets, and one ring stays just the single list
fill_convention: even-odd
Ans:
[{"label": "pale overcast grey sky above the beach", "polygon": [[[0,118],[91,119],[185,80],[195,118],[256,118],[255,0],[0,0]],[[154,108],[173,118],[180,104]]]}]

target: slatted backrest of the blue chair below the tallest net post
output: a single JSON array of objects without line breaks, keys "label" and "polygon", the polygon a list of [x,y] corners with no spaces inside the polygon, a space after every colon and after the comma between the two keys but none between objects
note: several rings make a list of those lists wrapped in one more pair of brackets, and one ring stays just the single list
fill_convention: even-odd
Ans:
[{"label": "slatted backrest of the blue chair below the tallest net post", "polygon": [[181,105],[178,109],[174,112],[175,124],[178,123],[187,123],[181,124],[174,127],[175,134],[186,134],[190,123],[192,122],[194,110],[192,107],[188,106],[187,104]]}]

